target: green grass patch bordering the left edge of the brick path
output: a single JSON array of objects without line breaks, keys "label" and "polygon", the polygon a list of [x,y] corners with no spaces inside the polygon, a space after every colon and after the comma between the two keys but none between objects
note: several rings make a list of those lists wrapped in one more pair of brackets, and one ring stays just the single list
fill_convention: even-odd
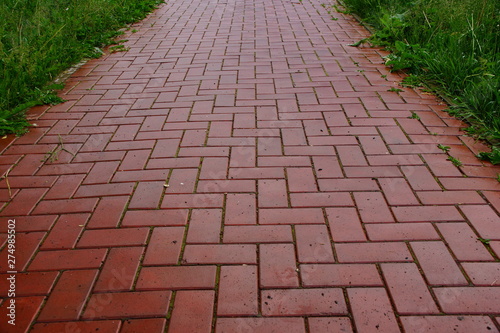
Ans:
[{"label": "green grass patch bordering the left edge of the brick path", "polygon": [[[98,57],[126,24],[161,0],[3,0],[0,2],[0,135],[20,134],[23,112],[61,102],[50,83],[82,58]],[[119,49],[117,49],[118,51]]]}]

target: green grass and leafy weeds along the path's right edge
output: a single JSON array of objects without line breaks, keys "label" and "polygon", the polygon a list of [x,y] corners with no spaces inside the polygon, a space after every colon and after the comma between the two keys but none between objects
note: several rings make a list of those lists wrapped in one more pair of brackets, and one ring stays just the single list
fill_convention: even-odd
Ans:
[{"label": "green grass and leafy weeds along the path's right edge", "polygon": [[473,125],[469,133],[499,144],[500,1],[344,1],[375,27],[370,41],[393,52],[392,70],[447,95],[453,114]]}]

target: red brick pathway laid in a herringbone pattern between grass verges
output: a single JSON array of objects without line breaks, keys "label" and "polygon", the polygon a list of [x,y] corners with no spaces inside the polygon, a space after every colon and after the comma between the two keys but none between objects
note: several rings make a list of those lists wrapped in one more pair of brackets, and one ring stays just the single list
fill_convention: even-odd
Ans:
[{"label": "red brick pathway laid in a herringbone pattern between grass verges", "polygon": [[500,168],[333,15],[170,0],[33,109],[0,331],[498,332]]}]

